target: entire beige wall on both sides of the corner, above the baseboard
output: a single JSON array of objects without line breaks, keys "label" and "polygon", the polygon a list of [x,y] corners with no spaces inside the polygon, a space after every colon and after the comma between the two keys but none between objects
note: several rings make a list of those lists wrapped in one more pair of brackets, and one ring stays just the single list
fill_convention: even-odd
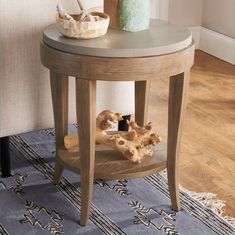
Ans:
[{"label": "entire beige wall on both sides of the corner, above the baseboard", "polygon": [[235,0],[169,0],[168,20],[235,37]]}]

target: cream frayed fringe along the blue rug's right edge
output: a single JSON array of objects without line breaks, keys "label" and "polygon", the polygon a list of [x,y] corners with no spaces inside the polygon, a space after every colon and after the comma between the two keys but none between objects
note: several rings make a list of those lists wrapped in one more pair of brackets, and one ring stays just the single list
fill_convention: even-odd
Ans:
[{"label": "cream frayed fringe along the blue rug's right edge", "polygon": [[[163,170],[160,172],[160,174],[167,179],[167,171]],[[217,214],[220,218],[222,218],[224,221],[229,223],[235,228],[235,218],[228,216],[225,211],[224,207],[226,206],[226,202],[222,201],[217,198],[217,195],[214,193],[207,193],[207,192],[192,192],[184,188],[180,185],[180,189],[187,193],[190,197],[201,203],[206,208],[211,209],[215,214]]]}]

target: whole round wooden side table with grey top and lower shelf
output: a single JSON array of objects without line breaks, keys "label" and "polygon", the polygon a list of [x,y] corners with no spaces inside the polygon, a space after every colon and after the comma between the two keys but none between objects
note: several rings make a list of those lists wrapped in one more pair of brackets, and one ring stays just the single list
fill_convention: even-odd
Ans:
[{"label": "whole round wooden side table with grey top and lower shelf", "polygon": [[[137,178],[166,167],[172,208],[180,209],[181,123],[193,61],[190,31],[160,20],[153,20],[145,31],[109,29],[105,36],[91,40],[65,38],[58,32],[57,24],[44,30],[41,62],[50,70],[56,132],[54,182],[59,182],[64,168],[81,175],[80,224],[85,225],[89,219],[94,178]],[[64,136],[68,132],[68,76],[76,78],[79,150],[64,148]],[[119,152],[95,145],[96,81],[135,81],[135,120],[144,125],[150,82],[162,77],[169,78],[167,147],[157,145],[153,157],[133,164]]]}]

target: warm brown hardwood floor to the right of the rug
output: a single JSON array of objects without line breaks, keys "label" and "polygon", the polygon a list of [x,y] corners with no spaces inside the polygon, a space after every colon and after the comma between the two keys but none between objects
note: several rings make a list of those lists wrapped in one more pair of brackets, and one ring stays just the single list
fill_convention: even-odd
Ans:
[{"label": "warm brown hardwood floor to the right of the rug", "polygon": [[[151,84],[148,120],[166,138],[168,79]],[[157,92],[153,92],[156,91]],[[216,193],[235,217],[235,66],[196,51],[183,124],[180,183]]]}]

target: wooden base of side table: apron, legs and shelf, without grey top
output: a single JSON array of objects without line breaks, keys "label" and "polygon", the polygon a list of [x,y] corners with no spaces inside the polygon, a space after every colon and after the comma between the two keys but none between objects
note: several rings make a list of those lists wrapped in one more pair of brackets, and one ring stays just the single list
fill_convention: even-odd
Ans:
[{"label": "wooden base of side table: apron, legs and shelf, without grey top", "polygon": [[[185,86],[182,81],[186,81],[183,72],[193,64],[194,45],[190,45],[182,51],[175,53],[149,56],[138,58],[107,58],[107,57],[92,57],[81,56],[75,54],[64,53],[58,50],[53,50],[50,47],[41,43],[41,60],[42,63],[51,69],[52,87],[61,87],[60,83],[53,83],[57,78],[58,73],[67,75],[76,75],[76,107],[77,107],[77,122],[79,126],[79,156],[67,155],[67,152],[60,154],[59,160],[56,162],[56,180],[62,172],[62,167],[80,172],[81,175],[81,219],[80,224],[86,225],[89,219],[89,211],[92,200],[93,180],[95,172],[98,175],[107,178],[135,178],[153,174],[166,167],[166,161],[156,161],[155,158],[143,161],[136,167],[130,167],[130,162],[120,164],[116,158],[114,162],[107,161],[106,158],[100,158],[101,161],[95,164],[95,127],[96,127],[96,80],[110,81],[136,81],[136,121],[139,124],[144,124],[147,116],[147,101],[150,87],[150,79],[159,80],[162,76],[171,76],[170,79],[170,101],[169,101],[169,131],[170,145],[167,148],[167,164],[169,171],[169,188],[172,198],[172,207],[175,210],[179,209],[178,204],[178,182],[177,182],[177,151],[180,140],[180,126],[183,110],[183,96],[185,94]],[[174,76],[176,74],[180,74]],[[62,77],[62,75],[61,75]],[[143,81],[144,80],[144,81]],[[168,79],[169,80],[169,79]],[[56,80],[57,81],[57,80]],[[183,82],[184,83],[184,82]],[[61,88],[54,91],[53,96],[60,95]],[[62,91],[64,92],[64,90]],[[61,98],[60,98],[61,99]],[[59,100],[60,100],[59,99]],[[64,100],[64,99],[63,99]],[[55,99],[53,98],[53,103]],[[61,102],[60,102],[61,103]],[[53,104],[57,107],[56,104]],[[57,112],[61,115],[63,110],[62,105],[54,108],[56,117]],[[59,110],[59,111],[58,111]],[[66,110],[65,110],[66,111]],[[67,113],[67,111],[66,111]],[[63,129],[63,120],[57,124]],[[58,134],[58,144],[62,134]],[[64,136],[63,136],[64,137]],[[179,138],[179,140],[178,140]],[[61,145],[62,146],[62,145]],[[62,146],[63,148],[63,146]],[[58,147],[57,147],[58,150]],[[108,155],[111,155],[108,154]],[[67,156],[67,157],[66,157]],[[108,162],[108,163],[107,163]],[[114,164],[115,163],[115,164]],[[95,169],[95,166],[97,166]],[[100,173],[102,172],[102,174]]]}]

